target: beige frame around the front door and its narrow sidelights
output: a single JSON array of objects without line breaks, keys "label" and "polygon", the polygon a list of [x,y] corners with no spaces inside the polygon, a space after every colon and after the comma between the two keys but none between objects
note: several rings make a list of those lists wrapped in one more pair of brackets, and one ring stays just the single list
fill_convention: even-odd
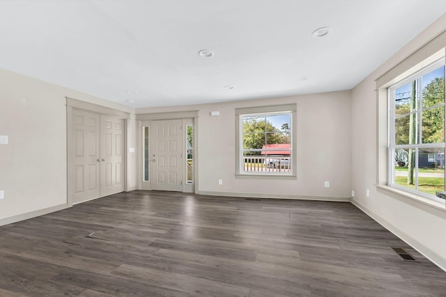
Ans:
[{"label": "beige frame around the front door and its narrow sidelights", "polygon": [[[185,141],[185,120],[192,119],[192,125],[194,126],[194,143],[193,143],[193,151],[194,151],[194,182],[192,185],[186,184],[183,181],[183,193],[198,193],[199,189],[199,174],[198,174],[198,164],[199,164],[199,152],[198,152],[198,111],[179,111],[172,113],[141,113],[136,115],[137,120],[137,131],[135,135],[136,139],[136,153],[137,153],[137,188],[139,190],[142,189],[151,189],[151,176],[149,175],[149,182],[143,182],[143,161],[144,161],[144,150],[143,150],[143,134],[142,128],[149,127],[150,131],[150,123],[153,120],[183,120],[183,141]],[[144,124],[143,124],[144,123]],[[148,123],[148,124],[147,124]],[[150,138],[150,135],[149,135]],[[185,145],[183,145],[185,147]],[[183,152],[183,156],[185,152]],[[186,175],[184,175],[185,177]],[[143,187],[143,184],[146,184]]]}]

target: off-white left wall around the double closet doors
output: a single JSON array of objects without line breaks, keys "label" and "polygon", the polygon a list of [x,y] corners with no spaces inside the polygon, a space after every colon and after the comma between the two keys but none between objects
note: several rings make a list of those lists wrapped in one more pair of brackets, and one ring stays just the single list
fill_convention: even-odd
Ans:
[{"label": "off-white left wall around the double closet doors", "polygon": [[[133,112],[120,104],[0,70],[0,135],[9,136],[9,144],[0,145],[0,190],[5,191],[0,225],[8,223],[6,218],[65,206],[66,97]],[[130,122],[134,129],[134,121]],[[129,145],[134,146],[133,137]],[[134,163],[129,166],[129,172],[134,172]],[[129,186],[134,185],[132,174]]]}]

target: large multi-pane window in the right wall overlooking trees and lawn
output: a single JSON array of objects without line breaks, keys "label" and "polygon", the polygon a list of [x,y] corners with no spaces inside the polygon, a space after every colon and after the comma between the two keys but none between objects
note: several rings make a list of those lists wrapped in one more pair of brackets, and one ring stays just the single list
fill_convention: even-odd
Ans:
[{"label": "large multi-pane window in the right wall overlooking trees and lawn", "polygon": [[389,184],[436,199],[445,191],[444,58],[392,86]]}]

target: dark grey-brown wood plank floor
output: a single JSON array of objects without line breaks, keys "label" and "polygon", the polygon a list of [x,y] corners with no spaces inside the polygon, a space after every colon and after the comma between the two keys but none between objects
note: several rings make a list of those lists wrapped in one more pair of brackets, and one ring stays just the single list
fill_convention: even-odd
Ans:
[{"label": "dark grey-brown wood plank floor", "polygon": [[446,296],[446,273],[348,202],[133,191],[0,227],[0,296]]}]

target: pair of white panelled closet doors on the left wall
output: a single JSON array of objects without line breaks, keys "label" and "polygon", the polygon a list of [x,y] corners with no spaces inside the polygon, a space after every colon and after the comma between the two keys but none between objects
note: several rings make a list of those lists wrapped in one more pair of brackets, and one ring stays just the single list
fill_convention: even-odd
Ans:
[{"label": "pair of white panelled closet doors on the left wall", "polygon": [[124,121],[72,109],[68,195],[73,204],[124,191]]}]

